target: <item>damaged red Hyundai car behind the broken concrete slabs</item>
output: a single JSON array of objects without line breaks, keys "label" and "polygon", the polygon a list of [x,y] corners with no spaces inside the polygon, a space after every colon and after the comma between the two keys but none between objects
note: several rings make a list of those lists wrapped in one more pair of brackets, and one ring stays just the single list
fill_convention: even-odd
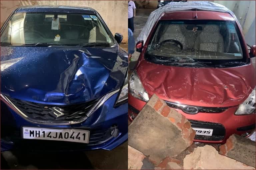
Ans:
[{"label": "damaged red Hyundai car behind the broken concrete slabs", "polygon": [[255,130],[255,51],[229,13],[164,12],[145,43],[130,78],[132,121],[156,94],[184,115],[195,142],[225,143]]}]

